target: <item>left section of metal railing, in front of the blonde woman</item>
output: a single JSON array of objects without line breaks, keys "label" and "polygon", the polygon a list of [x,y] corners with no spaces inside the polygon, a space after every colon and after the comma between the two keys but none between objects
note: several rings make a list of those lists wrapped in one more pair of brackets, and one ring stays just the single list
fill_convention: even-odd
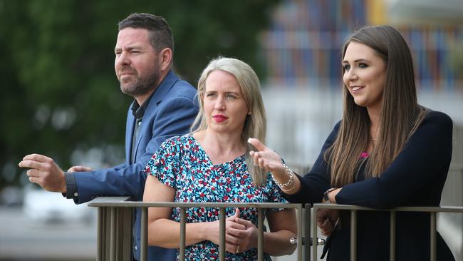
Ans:
[{"label": "left section of metal railing, in front of the blonde woman", "polygon": [[[95,198],[88,206],[98,208],[98,245],[97,260],[130,260],[132,240],[132,213],[134,208],[141,208],[140,261],[147,260],[147,215],[148,208],[180,208],[180,260],[184,260],[185,252],[185,209],[186,208],[219,208],[219,258],[225,260],[225,208],[256,208],[258,213],[258,260],[264,260],[264,209],[286,208],[296,209],[298,215],[298,236],[296,241],[297,257],[302,260],[303,222],[310,224],[310,208],[303,211],[301,204],[289,203],[173,203],[173,202],[132,202],[129,197]],[[306,227],[306,238],[310,235]],[[304,244],[306,259],[310,258],[310,245]]]}]

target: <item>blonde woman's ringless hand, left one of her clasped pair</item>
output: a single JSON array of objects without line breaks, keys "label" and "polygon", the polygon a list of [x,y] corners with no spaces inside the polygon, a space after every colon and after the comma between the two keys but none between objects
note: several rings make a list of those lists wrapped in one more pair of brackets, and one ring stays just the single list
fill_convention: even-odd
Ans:
[{"label": "blonde woman's ringless hand, left one of her clasped pair", "polygon": [[[236,208],[234,215],[225,219],[225,231],[229,229],[229,227],[237,229],[237,230],[245,230],[246,227],[244,225],[240,225],[234,220],[239,217],[239,209]],[[208,227],[206,228],[207,234],[206,239],[213,242],[216,245],[220,243],[220,220],[216,220],[214,222],[209,222]],[[228,252],[236,253],[237,245],[231,244],[227,240],[227,235],[225,235],[225,249]]]}]

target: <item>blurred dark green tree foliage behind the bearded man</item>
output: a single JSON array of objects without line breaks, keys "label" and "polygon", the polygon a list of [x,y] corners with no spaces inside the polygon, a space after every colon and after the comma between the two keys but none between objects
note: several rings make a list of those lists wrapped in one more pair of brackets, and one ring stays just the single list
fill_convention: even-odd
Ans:
[{"label": "blurred dark green tree foliage behind the bearded man", "polygon": [[175,71],[193,85],[218,55],[240,58],[263,77],[258,36],[277,2],[0,0],[0,189],[26,180],[17,163],[28,153],[62,168],[76,150],[119,150],[115,158],[123,158],[132,99],[120,93],[113,69],[118,21],[133,12],[164,16]]}]

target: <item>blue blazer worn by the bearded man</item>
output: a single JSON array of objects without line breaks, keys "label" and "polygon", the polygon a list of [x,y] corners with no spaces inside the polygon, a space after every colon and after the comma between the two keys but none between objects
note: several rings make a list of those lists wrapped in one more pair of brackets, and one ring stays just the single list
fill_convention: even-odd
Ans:
[{"label": "blue blazer worn by the bearded man", "polygon": [[[94,170],[75,175],[78,204],[88,202],[98,196],[131,196],[142,200],[146,175],[145,165],[155,154],[161,143],[175,135],[189,133],[198,113],[196,89],[180,80],[170,71],[150,98],[142,118],[140,133],[135,142],[135,164],[130,164],[132,136],[135,117],[129,108],[125,130],[125,163],[113,168]],[[136,259],[140,257],[140,210],[135,220]],[[162,247],[149,247],[149,260],[176,260],[175,250]]]}]

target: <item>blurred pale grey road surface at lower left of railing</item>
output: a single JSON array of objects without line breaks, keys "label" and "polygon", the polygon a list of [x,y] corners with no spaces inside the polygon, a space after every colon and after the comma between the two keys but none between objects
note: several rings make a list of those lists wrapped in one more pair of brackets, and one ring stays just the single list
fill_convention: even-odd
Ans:
[{"label": "blurred pale grey road surface at lower left of railing", "polygon": [[95,260],[96,222],[37,224],[0,206],[0,260]]}]

